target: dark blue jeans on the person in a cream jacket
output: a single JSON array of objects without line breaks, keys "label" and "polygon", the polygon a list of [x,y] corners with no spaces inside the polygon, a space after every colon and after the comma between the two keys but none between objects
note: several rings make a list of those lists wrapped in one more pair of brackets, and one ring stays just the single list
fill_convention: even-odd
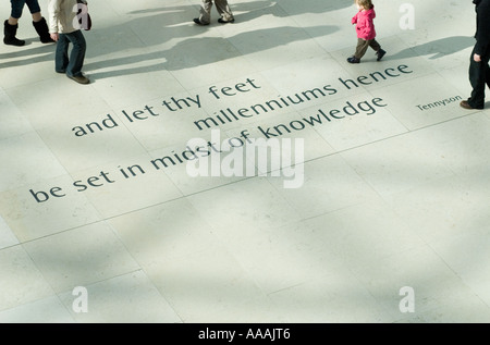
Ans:
[{"label": "dark blue jeans on the person in a cream jacket", "polygon": [[[73,45],[73,48],[69,57],[70,44]],[[87,44],[82,30],[60,34],[54,57],[56,71],[58,73],[66,73],[68,76],[82,76],[86,50]]]}]

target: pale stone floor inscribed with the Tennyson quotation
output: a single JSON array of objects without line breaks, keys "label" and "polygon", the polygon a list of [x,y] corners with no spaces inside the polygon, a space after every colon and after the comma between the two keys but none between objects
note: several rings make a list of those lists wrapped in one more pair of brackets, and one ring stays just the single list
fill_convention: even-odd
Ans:
[{"label": "pale stone floor inscribed with the Tennyson quotation", "polygon": [[376,0],[387,54],[350,64],[348,0],[209,26],[199,0],[93,0],[90,85],[25,10],[0,47],[0,322],[490,322],[490,112],[458,106],[475,10],[444,3]]}]

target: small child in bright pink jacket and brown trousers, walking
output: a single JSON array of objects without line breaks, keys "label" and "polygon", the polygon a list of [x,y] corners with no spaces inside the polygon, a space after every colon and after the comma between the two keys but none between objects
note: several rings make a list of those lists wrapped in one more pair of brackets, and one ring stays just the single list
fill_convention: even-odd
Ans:
[{"label": "small child in bright pink jacket and brown trousers, walking", "polygon": [[387,53],[381,49],[376,38],[375,23],[376,17],[375,5],[371,0],[355,0],[359,10],[352,19],[352,24],[356,24],[357,47],[354,56],[347,59],[350,63],[359,63],[366,53],[368,47],[371,47],[380,61]]}]

